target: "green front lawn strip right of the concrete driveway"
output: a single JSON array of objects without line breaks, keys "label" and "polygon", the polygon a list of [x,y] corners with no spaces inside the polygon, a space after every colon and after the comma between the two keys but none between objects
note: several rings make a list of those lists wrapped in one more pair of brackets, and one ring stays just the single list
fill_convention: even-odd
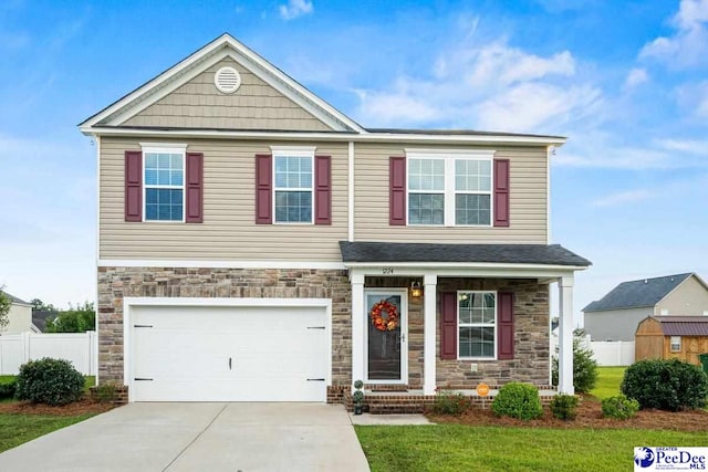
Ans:
[{"label": "green front lawn strip right of the concrete driveway", "polygon": [[372,471],[626,471],[636,445],[705,445],[706,433],[469,427],[357,426]]}]

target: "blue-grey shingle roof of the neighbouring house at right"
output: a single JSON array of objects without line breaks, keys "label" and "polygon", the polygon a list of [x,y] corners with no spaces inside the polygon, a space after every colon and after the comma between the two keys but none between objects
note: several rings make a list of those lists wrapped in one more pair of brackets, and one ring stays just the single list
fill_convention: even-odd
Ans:
[{"label": "blue-grey shingle roof of the neighbouring house at right", "polygon": [[583,312],[654,306],[691,275],[691,273],[687,273],[623,282],[602,298],[590,303],[583,308]]}]

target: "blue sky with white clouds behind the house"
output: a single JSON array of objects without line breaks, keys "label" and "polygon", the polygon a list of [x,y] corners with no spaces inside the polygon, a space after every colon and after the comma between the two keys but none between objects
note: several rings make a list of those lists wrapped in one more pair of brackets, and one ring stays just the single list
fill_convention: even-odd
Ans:
[{"label": "blue sky with white clouds behind the house", "polygon": [[568,136],[552,239],[621,281],[708,276],[708,0],[0,3],[0,285],[95,297],[76,124],[229,32],[364,126]]}]

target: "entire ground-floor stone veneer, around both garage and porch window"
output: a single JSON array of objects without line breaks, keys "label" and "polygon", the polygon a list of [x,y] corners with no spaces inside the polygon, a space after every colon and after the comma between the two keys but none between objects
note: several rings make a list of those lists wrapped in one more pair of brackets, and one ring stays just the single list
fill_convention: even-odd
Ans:
[{"label": "entire ground-floor stone veneer, around both garage and porch window", "polygon": [[[366,287],[409,287],[409,277],[366,277]],[[512,360],[437,360],[437,384],[475,388],[480,381],[500,386],[511,380],[549,384],[549,290],[535,280],[442,279],[440,292],[497,290],[514,292],[516,346]],[[123,298],[278,297],[332,300],[332,386],[339,401],[352,384],[351,285],[346,271],[179,268],[98,268],[98,377],[123,382]],[[423,385],[423,298],[408,297],[408,386]],[[439,313],[436,326],[439,326]],[[439,329],[436,333],[439,353]],[[478,365],[472,373],[470,365]]]}]

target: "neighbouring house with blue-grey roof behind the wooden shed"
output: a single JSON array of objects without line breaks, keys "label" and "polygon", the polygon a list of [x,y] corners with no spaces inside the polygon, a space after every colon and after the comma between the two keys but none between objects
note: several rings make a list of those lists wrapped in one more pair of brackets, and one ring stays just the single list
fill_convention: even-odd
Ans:
[{"label": "neighbouring house with blue-grey roof behind the wooden shed", "polygon": [[623,282],[583,312],[593,340],[634,340],[647,316],[708,314],[708,285],[694,273]]}]

